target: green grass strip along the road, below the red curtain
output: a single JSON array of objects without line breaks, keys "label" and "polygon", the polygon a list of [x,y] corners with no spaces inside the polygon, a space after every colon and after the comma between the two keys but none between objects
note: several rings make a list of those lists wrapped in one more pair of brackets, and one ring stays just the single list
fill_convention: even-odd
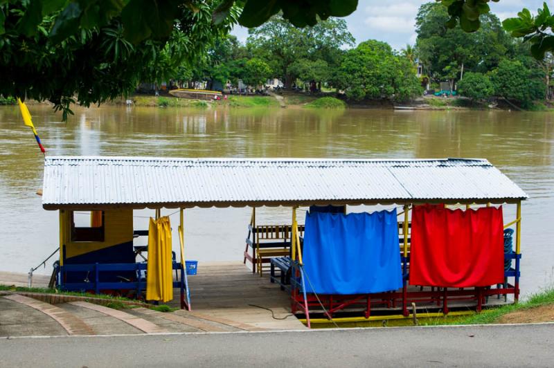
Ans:
[{"label": "green grass strip along the road, below the red curtain", "polygon": [[516,311],[527,311],[529,309],[537,308],[539,306],[546,306],[554,304],[554,288],[549,288],[546,291],[531,295],[531,297],[525,302],[518,304],[510,304],[506,306],[500,306],[493,309],[485,309],[481,313],[475,313],[473,315],[460,316],[460,317],[439,317],[427,321],[427,325],[441,325],[441,324],[494,324],[499,319],[508,313]]}]

